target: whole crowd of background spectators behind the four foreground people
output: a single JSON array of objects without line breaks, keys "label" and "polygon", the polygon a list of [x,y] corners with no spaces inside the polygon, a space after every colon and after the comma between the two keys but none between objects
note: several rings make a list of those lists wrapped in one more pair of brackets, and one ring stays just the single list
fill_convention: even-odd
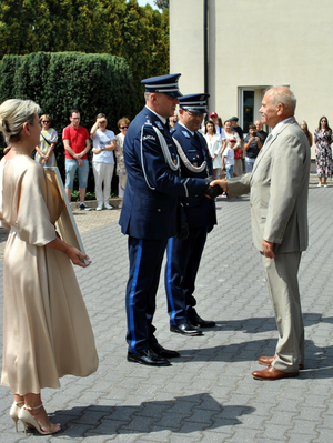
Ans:
[{"label": "whole crowd of background spectators behind the four foreground people", "polygon": [[[121,200],[119,208],[122,208],[122,200],[127,183],[127,170],[123,159],[123,142],[130,120],[125,117],[118,121],[119,133],[107,129],[107,115],[99,113],[97,121],[88,131],[80,125],[80,111],[70,112],[71,124],[63,129],[62,141],[65,151],[65,192],[71,200],[74,177],[78,173],[80,205],[81,210],[90,211],[85,204],[85,190],[89,174],[89,162],[87,153],[92,142],[92,170],[95,183],[97,211],[103,208],[111,210],[110,204],[111,181],[117,168],[119,178],[118,195]],[[174,111],[169,118],[169,128],[172,130],[179,122],[179,111]],[[245,133],[238,124],[238,117],[232,117],[222,123],[216,112],[211,112],[206,121],[203,121],[200,131],[204,134],[209,152],[213,161],[213,178],[240,177],[250,173],[260,150],[262,149],[268,132],[263,130],[261,120],[249,125]],[[57,165],[54,147],[58,141],[58,132],[51,127],[52,119],[49,114],[40,117],[41,134],[40,142],[36,147],[34,159],[43,167]],[[327,187],[327,178],[332,178],[332,130],[325,117],[320,119],[319,128],[314,138],[307,129],[307,123],[302,121],[301,129],[306,135],[310,147],[315,143],[315,162],[319,177],[319,187]],[[224,152],[225,151],[225,152]],[[323,181],[323,182],[322,182]],[[223,195],[224,197],[224,195]]]}]

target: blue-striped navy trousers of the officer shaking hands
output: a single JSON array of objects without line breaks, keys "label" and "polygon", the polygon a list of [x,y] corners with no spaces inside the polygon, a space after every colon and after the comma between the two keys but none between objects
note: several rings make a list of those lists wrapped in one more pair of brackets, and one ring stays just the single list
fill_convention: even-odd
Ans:
[{"label": "blue-striped navy trousers of the officer shaking hands", "polygon": [[152,325],[165,240],[140,240],[129,236],[130,276],[127,286],[127,342],[129,351],[139,353],[157,343]]}]

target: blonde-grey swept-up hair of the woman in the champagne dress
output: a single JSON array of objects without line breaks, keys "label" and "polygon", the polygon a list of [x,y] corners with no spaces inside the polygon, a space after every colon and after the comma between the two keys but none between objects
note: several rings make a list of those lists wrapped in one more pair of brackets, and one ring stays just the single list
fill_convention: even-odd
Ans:
[{"label": "blonde-grey swept-up hair of the woman in the champagne dress", "polygon": [[34,114],[39,112],[39,105],[32,100],[6,100],[0,107],[0,131],[7,142],[19,141],[23,124],[33,124]]}]

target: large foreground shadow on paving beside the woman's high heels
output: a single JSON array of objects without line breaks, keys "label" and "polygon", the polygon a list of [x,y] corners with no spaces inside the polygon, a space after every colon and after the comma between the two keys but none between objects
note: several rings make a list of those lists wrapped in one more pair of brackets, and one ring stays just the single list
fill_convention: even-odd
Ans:
[{"label": "large foreground shadow on paving beside the woman's high heels", "polygon": [[56,411],[50,419],[53,423],[61,423],[59,436],[74,439],[165,430],[188,434],[241,424],[242,415],[254,411],[254,407],[246,405],[223,406],[210,394],[199,393],[169,401],[142,402],[137,406],[72,407]]}]

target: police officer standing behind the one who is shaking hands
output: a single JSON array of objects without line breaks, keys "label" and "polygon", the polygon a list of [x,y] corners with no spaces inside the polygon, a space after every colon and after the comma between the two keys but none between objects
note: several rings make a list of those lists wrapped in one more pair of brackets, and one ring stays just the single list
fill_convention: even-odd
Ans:
[{"label": "police officer standing behind the one who is shaking hands", "polygon": [[[180,101],[180,122],[171,130],[181,159],[181,177],[205,179],[213,165],[206,141],[196,132],[203,121],[209,94],[184,95]],[[213,321],[201,319],[195,310],[194,283],[206,234],[216,224],[215,201],[206,197],[182,197],[182,235],[169,240],[165,266],[165,291],[170,331],[202,335],[200,328],[212,328]]]}]

